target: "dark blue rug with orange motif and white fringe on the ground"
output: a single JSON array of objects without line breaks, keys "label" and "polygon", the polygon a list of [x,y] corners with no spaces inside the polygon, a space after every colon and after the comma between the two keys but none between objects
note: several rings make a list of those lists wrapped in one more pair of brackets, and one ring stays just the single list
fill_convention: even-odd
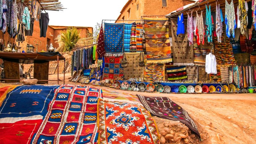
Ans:
[{"label": "dark blue rug with orange motif and white fringe on the ground", "polygon": [[[22,85],[6,95],[0,107],[0,123],[43,119],[59,86]],[[11,108],[10,108],[11,107]]]}]

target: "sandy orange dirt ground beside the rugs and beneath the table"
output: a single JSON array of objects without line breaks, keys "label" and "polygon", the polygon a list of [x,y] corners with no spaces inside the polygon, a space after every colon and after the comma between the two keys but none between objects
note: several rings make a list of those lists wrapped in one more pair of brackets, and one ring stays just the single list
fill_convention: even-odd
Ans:
[{"label": "sandy orange dirt ground beside the rugs and beneath the table", "polygon": [[[66,74],[66,83],[70,73]],[[57,75],[49,75],[49,79],[57,79]],[[63,80],[63,74],[60,74]],[[49,82],[57,84],[57,82]],[[60,82],[63,84],[63,82]],[[102,89],[111,89],[101,87]],[[169,97],[188,111],[197,124],[203,141],[199,143],[228,143],[228,144],[255,144],[256,143],[256,94],[166,94],[148,92],[126,92],[144,96]],[[194,142],[197,143],[197,142]]]}]

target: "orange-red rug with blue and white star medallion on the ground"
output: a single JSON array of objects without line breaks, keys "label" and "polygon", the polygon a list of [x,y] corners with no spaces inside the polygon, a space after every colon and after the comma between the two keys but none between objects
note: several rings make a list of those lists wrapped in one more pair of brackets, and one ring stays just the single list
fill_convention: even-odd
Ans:
[{"label": "orange-red rug with blue and white star medallion on the ground", "polygon": [[160,143],[150,113],[136,104],[99,99],[100,144]]}]

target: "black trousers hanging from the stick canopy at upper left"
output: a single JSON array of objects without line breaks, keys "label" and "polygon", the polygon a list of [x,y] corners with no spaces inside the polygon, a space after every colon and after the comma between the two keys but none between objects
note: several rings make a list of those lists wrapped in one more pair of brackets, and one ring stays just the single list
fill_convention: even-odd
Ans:
[{"label": "black trousers hanging from the stick canopy at upper left", "polygon": [[48,13],[41,13],[41,17],[39,20],[39,26],[40,26],[40,37],[46,37],[46,31],[48,28],[49,23],[49,15]]}]

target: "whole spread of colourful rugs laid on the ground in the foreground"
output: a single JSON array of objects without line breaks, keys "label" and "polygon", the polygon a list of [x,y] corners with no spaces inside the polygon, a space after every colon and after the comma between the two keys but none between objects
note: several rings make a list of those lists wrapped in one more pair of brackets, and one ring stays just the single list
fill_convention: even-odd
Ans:
[{"label": "whole spread of colourful rugs laid on the ground in the foreground", "polygon": [[180,121],[200,138],[188,113],[165,97],[74,85],[1,87],[2,143],[159,144],[151,115]]}]

